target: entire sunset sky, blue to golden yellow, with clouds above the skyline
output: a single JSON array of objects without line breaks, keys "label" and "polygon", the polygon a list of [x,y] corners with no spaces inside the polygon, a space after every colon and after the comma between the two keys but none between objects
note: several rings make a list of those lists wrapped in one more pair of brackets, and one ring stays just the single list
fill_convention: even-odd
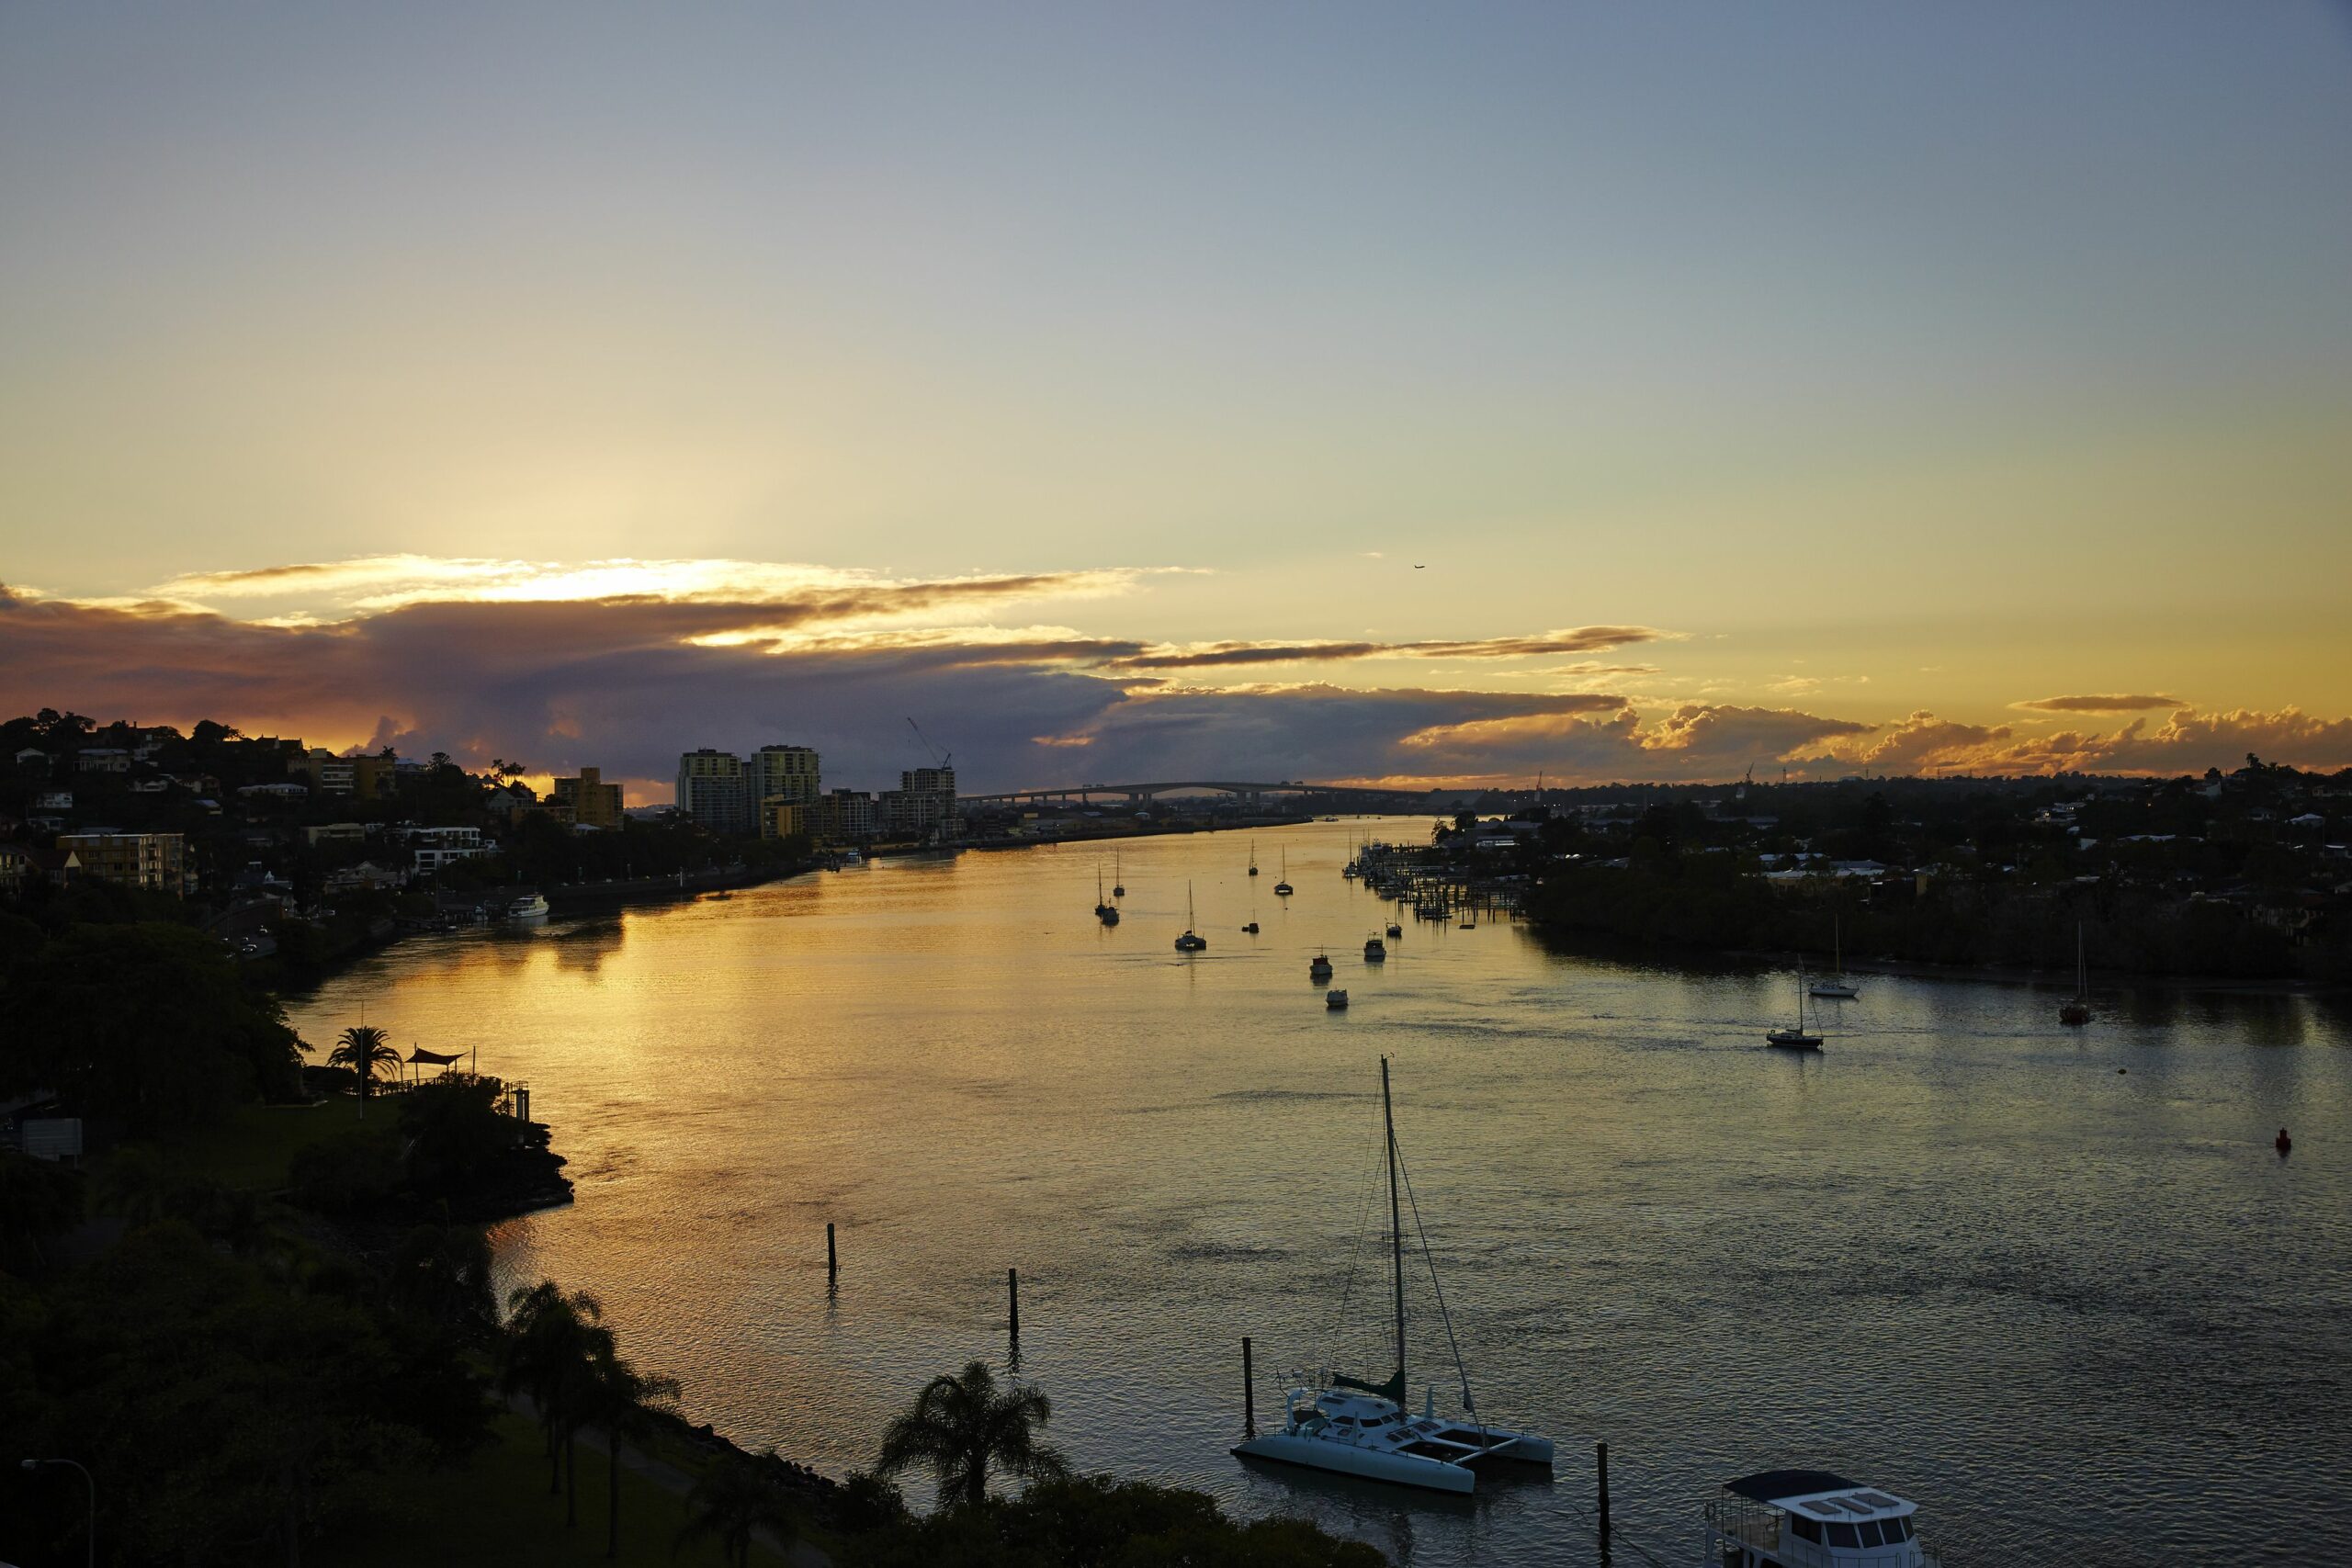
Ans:
[{"label": "entire sunset sky, blue to golden yellow, with clouds above the skyline", "polygon": [[0,0],[0,708],[2345,766],[2347,82],[2284,0]]}]

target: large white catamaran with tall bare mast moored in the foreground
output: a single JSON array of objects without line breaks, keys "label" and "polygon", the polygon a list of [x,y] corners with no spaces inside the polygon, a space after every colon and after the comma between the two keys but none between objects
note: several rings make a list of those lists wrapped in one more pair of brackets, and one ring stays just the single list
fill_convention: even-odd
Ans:
[{"label": "large white catamaran with tall bare mast moored in the foreground", "polygon": [[[1385,1056],[1381,1058],[1381,1124],[1388,1133],[1388,1265],[1397,1302],[1397,1368],[1385,1382],[1324,1373],[1322,1389],[1294,1387],[1282,1429],[1251,1434],[1232,1453],[1439,1493],[1477,1490],[1475,1465],[1491,1460],[1550,1467],[1552,1439],[1534,1432],[1505,1432],[1477,1418],[1461,1347],[1454,1352],[1454,1371],[1461,1378],[1463,1418],[1442,1420],[1437,1415],[1435,1387],[1428,1389],[1421,1415],[1404,1413],[1404,1211],[1397,1199],[1397,1112],[1388,1095]],[[1421,1227],[1418,1204],[1414,1206],[1414,1227]],[[1430,1262],[1435,1288],[1437,1262],[1430,1258],[1428,1234],[1421,1237],[1421,1255]],[[1437,1288],[1442,1314],[1444,1300],[1444,1291]],[[1446,1314],[1446,1340],[1454,1340],[1451,1314]]]}]

